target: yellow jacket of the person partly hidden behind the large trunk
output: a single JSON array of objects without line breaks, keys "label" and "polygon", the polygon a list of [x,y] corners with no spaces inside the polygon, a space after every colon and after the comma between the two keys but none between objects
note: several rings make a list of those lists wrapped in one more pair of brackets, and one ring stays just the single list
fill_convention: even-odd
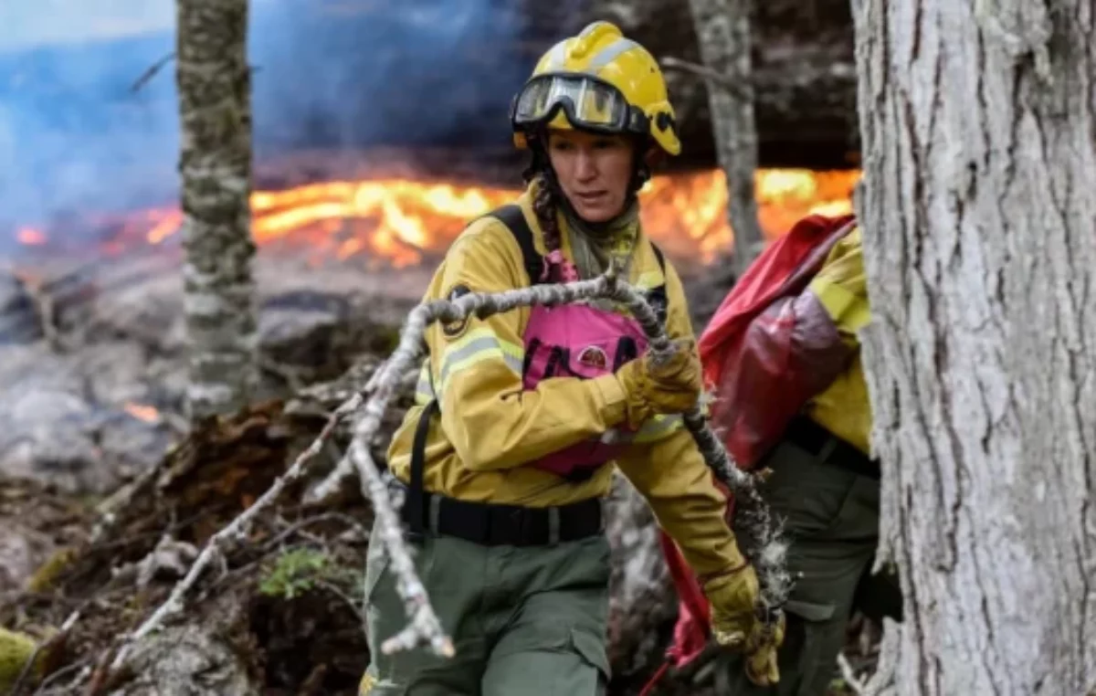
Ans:
[{"label": "yellow jacket of the person partly hidden behind the large trunk", "polygon": [[870,454],[871,402],[856,335],[871,319],[859,227],[834,246],[809,289],[825,307],[841,339],[857,350],[845,372],[807,406],[807,414]]}]

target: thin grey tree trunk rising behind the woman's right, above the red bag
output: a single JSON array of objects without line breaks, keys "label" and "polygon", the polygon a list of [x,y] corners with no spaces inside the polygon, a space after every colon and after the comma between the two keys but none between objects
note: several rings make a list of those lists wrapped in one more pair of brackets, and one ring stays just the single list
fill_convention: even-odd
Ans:
[{"label": "thin grey tree trunk rising behind the woman's right, above the red bag", "polygon": [[754,172],[757,129],[750,58],[753,0],[689,0],[704,64],[719,79],[707,80],[716,155],[727,176],[727,219],[734,231],[734,277],[762,249]]}]

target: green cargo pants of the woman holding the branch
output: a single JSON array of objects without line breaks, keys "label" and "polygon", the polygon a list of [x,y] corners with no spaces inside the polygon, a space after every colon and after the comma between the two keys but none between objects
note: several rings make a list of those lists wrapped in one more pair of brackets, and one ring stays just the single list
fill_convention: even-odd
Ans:
[{"label": "green cargo pants of the woman holding the branch", "polygon": [[[601,696],[609,545],[604,535],[553,546],[481,546],[431,536],[412,544],[415,566],[456,655],[429,648],[380,653],[407,625],[374,529],[366,562],[369,696]],[[370,688],[372,684],[372,688]]]}]

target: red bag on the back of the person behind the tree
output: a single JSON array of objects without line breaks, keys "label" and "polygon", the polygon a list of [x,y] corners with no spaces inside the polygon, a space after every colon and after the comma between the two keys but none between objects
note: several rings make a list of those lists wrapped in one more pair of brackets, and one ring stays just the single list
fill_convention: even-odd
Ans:
[{"label": "red bag on the back of the person behind the tree", "polygon": [[[715,389],[717,399],[712,425],[741,468],[756,464],[819,390],[813,370],[797,369],[791,351],[796,315],[790,303],[778,300],[806,289],[853,223],[852,215],[811,215],[799,220],[750,265],[700,335],[697,346],[706,387]],[[660,541],[677,589],[678,616],[666,663],[641,696],[650,693],[671,665],[692,662],[711,632],[710,607],[700,583],[664,532]]]}]

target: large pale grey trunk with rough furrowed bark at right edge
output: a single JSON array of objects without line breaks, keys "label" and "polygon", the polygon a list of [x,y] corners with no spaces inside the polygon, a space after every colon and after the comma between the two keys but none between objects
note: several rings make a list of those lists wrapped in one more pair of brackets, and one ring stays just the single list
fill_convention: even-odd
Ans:
[{"label": "large pale grey trunk with rough furrowed bark at right edge", "polygon": [[854,0],[900,694],[1096,686],[1089,0]]}]

